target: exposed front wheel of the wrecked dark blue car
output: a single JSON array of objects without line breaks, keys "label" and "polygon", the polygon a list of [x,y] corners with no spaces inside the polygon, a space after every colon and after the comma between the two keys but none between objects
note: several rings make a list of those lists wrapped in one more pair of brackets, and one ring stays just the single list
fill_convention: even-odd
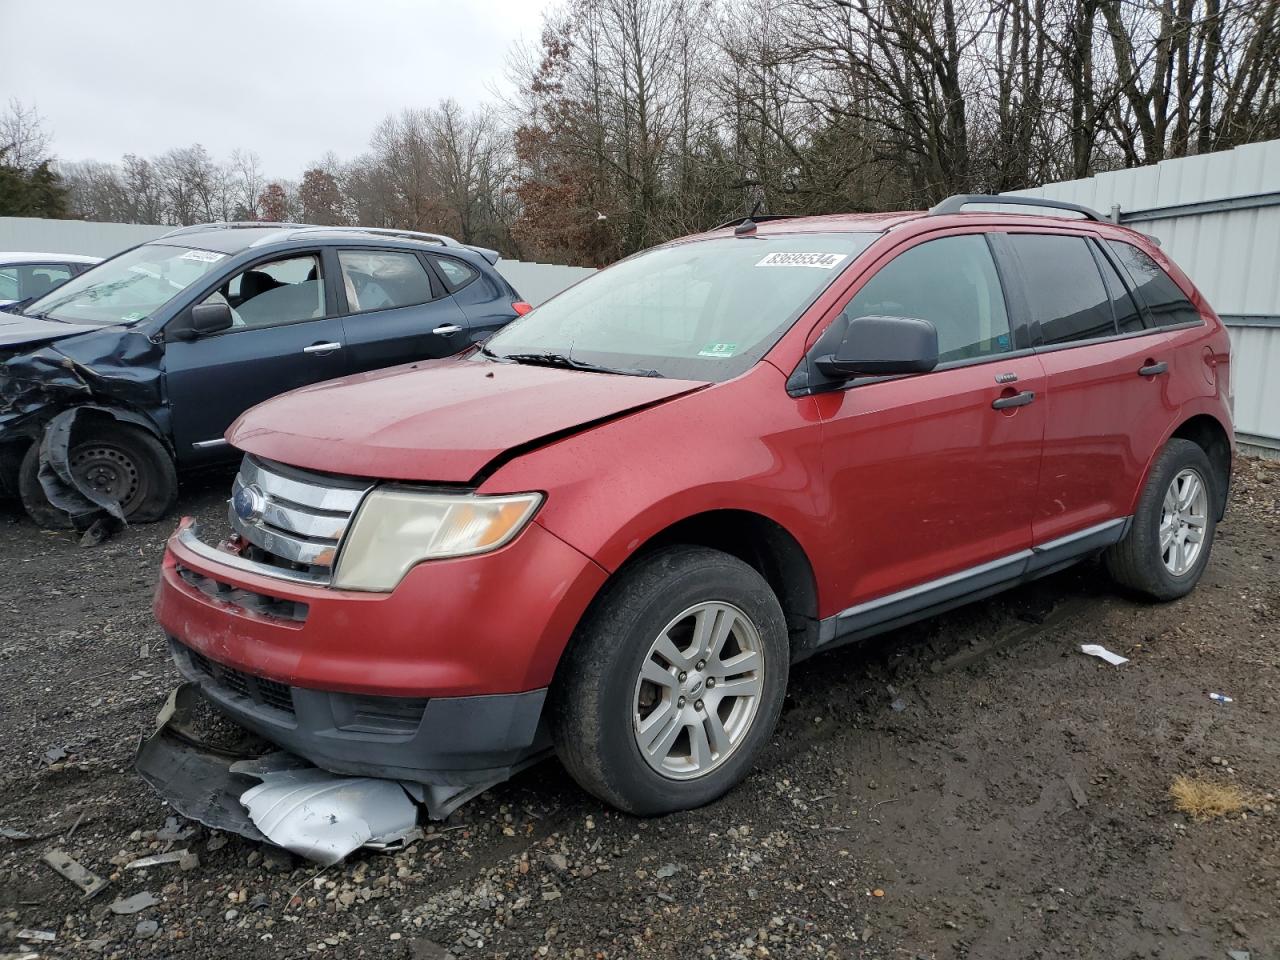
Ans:
[{"label": "exposed front wheel of the wrecked dark blue car", "polygon": [[[95,422],[70,449],[72,471],[86,483],[115,493],[131,524],[164,517],[178,498],[178,472],[164,445],[146,430],[120,422]],[[54,507],[40,485],[40,443],[18,470],[18,494],[42,527],[67,530],[72,521]]]}]

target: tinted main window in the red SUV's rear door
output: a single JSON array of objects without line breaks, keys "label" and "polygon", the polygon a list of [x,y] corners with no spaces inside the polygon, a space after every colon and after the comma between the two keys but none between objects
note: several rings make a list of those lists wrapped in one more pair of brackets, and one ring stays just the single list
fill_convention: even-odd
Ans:
[{"label": "tinted main window in the red SUV's rear door", "polygon": [[1083,237],[1011,233],[1041,343],[1074,343],[1116,332],[1111,297]]}]

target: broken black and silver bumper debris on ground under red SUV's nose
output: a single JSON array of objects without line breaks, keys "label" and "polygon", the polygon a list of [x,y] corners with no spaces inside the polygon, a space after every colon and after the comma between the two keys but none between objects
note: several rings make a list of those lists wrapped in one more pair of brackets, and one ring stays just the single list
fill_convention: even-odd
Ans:
[{"label": "broken black and silver bumper debris on ground under red SUV's nose", "polygon": [[419,835],[421,812],[443,819],[495,781],[462,786],[339,776],[252,741],[209,742],[195,723],[204,694],[174,690],[138,748],[142,778],[178,813],[214,829],[266,841],[321,864],[361,846],[387,849]]}]

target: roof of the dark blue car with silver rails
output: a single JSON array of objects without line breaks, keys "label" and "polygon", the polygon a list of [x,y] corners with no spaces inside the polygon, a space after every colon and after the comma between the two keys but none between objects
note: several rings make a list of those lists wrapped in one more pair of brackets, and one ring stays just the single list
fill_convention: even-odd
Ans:
[{"label": "roof of the dark blue car with silver rails", "polygon": [[247,250],[289,242],[320,244],[378,243],[380,246],[431,247],[435,250],[443,247],[456,253],[479,253],[490,264],[498,261],[497,251],[461,243],[443,233],[421,233],[417,230],[396,230],[378,227],[321,227],[317,224],[259,223],[250,220],[179,227],[150,241],[150,243],[166,246],[198,247],[218,253],[242,253]]}]

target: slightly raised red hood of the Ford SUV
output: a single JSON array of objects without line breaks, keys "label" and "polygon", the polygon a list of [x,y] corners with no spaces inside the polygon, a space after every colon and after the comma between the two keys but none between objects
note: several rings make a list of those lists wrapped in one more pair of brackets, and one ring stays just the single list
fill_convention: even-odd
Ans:
[{"label": "slightly raised red hood of the Ford SUV", "polygon": [[227,439],[248,453],[308,470],[462,484],[511,451],[703,385],[436,360],[293,390],[244,413]]}]

